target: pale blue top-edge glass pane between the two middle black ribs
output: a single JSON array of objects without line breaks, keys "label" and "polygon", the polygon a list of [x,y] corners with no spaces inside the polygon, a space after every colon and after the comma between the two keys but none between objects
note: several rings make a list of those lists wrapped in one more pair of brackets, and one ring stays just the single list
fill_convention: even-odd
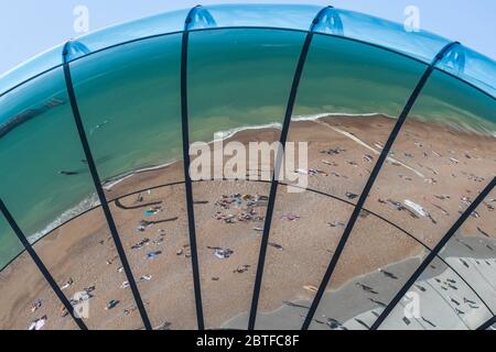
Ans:
[{"label": "pale blue top-edge glass pane between the two middle black ribs", "polygon": [[308,31],[322,7],[309,4],[206,6],[217,28],[263,26]]}]

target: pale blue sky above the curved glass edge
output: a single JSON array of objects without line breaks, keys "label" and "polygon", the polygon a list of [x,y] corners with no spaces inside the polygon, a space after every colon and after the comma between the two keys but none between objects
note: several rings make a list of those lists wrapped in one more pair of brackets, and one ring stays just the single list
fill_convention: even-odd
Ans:
[{"label": "pale blue sky above the curved glass edge", "polygon": [[[495,0],[204,0],[211,3],[315,3],[332,4],[403,23],[407,6],[420,9],[421,28],[457,40],[496,58]],[[0,1],[0,75],[30,57],[77,36],[73,13],[77,6],[89,10],[90,31],[138,18],[191,8],[190,0],[14,0]]]}]

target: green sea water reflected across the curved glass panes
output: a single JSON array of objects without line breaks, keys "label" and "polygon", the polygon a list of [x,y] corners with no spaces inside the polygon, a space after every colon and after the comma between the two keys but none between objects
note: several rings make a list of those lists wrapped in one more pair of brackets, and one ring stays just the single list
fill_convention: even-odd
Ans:
[{"label": "green sea water reflected across the curved glass panes", "polygon": [[[304,33],[217,30],[190,36],[191,141],[214,132],[281,123]],[[181,157],[181,35],[112,48],[72,64],[87,136],[103,180]],[[316,35],[294,116],[397,117],[425,66],[341,38]],[[0,138],[0,195],[26,235],[42,235],[93,202],[93,182],[75,129],[62,69],[0,98],[0,123],[48,99],[65,102]],[[414,116],[496,131],[495,101],[434,73]],[[61,170],[76,172],[74,176]],[[72,209],[69,212],[67,210]],[[61,218],[61,216],[63,217]],[[0,222],[0,267],[21,248]]]}]

